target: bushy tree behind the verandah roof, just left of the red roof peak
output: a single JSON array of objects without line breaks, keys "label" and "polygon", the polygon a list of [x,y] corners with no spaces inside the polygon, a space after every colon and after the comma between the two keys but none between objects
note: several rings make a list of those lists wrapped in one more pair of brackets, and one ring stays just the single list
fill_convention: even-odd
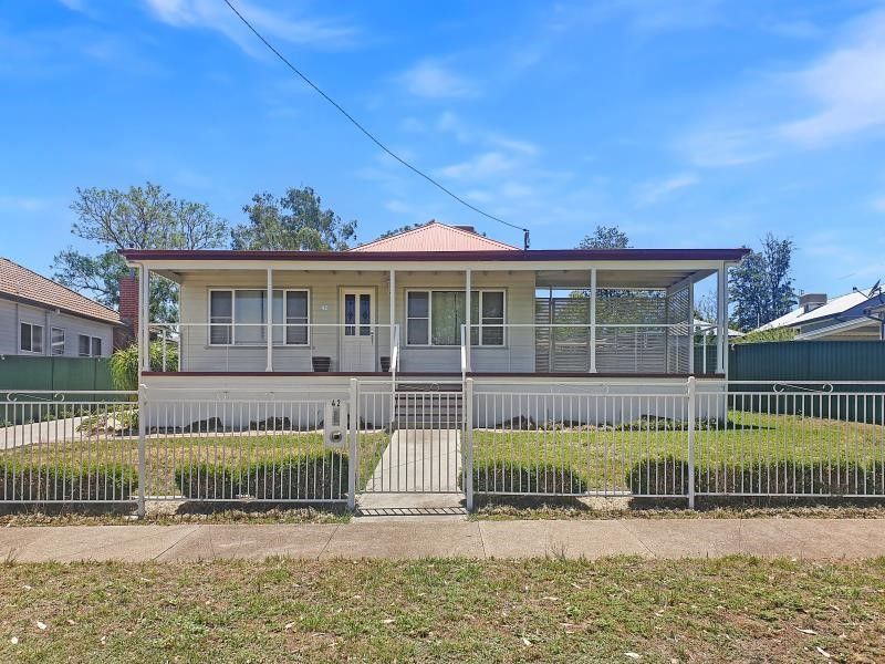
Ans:
[{"label": "bushy tree behind the verandah roof, just left of the red roof peak", "polygon": [[242,211],[249,216],[231,231],[235,249],[260,251],[343,251],[356,237],[356,220],[344,222],[311,187],[289,188],[280,198],[264,191]]}]

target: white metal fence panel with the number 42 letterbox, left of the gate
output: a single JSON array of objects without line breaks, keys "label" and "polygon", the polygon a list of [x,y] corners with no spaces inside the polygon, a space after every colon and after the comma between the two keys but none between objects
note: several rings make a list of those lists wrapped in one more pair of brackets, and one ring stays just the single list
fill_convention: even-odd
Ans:
[{"label": "white metal fence panel with the number 42 letterbox, left of the gate", "polygon": [[[346,393],[146,395],[148,500],[343,502],[348,491]],[[344,404],[343,432],[330,437]],[[336,415],[337,413],[337,415]]]}]

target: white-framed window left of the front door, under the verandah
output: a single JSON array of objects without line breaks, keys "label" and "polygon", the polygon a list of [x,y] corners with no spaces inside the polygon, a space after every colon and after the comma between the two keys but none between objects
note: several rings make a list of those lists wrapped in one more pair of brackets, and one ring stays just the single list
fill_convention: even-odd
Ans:
[{"label": "white-framed window left of the front door, under the verandah", "polygon": [[[209,291],[209,343],[259,345],[268,340],[268,292],[258,289]],[[305,290],[273,291],[273,343],[306,345],[309,294]]]}]

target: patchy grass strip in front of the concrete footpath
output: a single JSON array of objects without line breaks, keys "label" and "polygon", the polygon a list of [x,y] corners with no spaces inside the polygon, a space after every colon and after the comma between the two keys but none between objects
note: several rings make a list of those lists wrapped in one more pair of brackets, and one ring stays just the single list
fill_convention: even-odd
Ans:
[{"label": "patchy grass strip in front of the concrete footpath", "polygon": [[8,563],[0,596],[0,661],[875,662],[885,652],[883,559]]}]

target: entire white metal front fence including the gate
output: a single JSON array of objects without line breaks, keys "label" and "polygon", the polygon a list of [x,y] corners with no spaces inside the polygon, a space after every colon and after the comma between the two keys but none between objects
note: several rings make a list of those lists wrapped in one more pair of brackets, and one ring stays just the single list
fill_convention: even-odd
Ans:
[{"label": "entire white metal front fence including the gate", "polygon": [[885,382],[7,391],[0,421],[3,504],[885,498]]}]

